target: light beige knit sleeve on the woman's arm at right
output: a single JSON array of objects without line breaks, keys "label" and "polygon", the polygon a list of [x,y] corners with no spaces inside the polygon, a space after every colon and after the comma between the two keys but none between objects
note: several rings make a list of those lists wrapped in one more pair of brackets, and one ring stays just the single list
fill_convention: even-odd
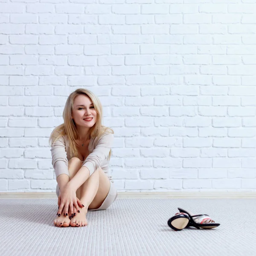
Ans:
[{"label": "light beige knit sleeve on the woman's arm at right", "polygon": [[102,137],[100,137],[95,149],[84,160],[82,166],[85,166],[89,169],[90,175],[92,175],[93,172],[95,172],[100,167],[101,162],[108,157],[113,139],[114,134],[104,134]]}]

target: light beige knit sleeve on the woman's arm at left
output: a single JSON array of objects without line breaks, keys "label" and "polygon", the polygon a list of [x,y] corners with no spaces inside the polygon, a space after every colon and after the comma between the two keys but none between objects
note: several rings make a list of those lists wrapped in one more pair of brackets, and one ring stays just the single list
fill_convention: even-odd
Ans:
[{"label": "light beige knit sleeve on the woman's arm at left", "polygon": [[[54,142],[55,138],[52,140]],[[58,140],[55,141],[51,146],[52,152],[52,166],[55,171],[56,180],[57,177],[61,174],[67,174],[68,172],[68,160],[67,160],[67,152],[65,149],[65,140],[64,137],[61,136]]]}]

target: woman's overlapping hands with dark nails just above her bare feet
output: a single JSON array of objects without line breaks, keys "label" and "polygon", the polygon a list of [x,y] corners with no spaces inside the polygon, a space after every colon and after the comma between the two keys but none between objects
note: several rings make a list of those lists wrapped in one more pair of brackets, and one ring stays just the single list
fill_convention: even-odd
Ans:
[{"label": "woman's overlapping hands with dark nails just above her bare feet", "polygon": [[61,190],[61,193],[58,197],[58,215],[61,215],[61,212],[63,211],[63,215],[67,216],[70,209],[70,215],[74,213],[74,207],[78,212],[79,206],[82,208],[84,207],[81,203],[81,201],[76,197],[76,191],[73,189],[72,186],[70,186],[68,183],[64,188]]}]

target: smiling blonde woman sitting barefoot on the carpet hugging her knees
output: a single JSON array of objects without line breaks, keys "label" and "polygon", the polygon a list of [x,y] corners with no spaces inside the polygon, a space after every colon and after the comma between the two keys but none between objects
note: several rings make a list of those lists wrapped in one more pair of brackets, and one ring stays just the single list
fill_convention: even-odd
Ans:
[{"label": "smiling blonde woman sitting barefoot on the carpet hugging her knees", "polygon": [[102,125],[99,99],[82,88],[68,96],[63,119],[49,138],[58,183],[54,224],[84,227],[87,211],[105,210],[117,197],[108,176],[113,130]]}]

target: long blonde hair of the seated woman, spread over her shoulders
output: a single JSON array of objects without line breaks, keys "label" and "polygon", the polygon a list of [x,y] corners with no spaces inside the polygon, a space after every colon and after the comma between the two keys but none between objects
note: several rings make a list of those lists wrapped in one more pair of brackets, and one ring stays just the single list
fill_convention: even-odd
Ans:
[{"label": "long blonde hair of the seated woman, spread over her shoulders", "polygon": [[[78,151],[76,149],[76,140],[79,138],[79,133],[76,129],[76,123],[72,119],[72,111],[74,109],[74,100],[78,95],[86,95],[88,96],[91,101],[93,102],[94,109],[97,113],[97,120],[93,127],[89,129],[89,137],[90,138],[100,138],[102,134],[105,132],[114,133],[111,128],[105,127],[102,125],[102,104],[99,101],[99,98],[92,93],[90,90],[79,88],[75,90],[73,93],[67,98],[67,102],[64,107],[63,111],[63,119],[64,123],[55,127],[50,134],[49,143],[52,146],[59,137],[67,135],[68,139],[70,140],[70,157],[78,157]],[[55,140],[54,140],[55,138]],[[53,141],[54,140],[54,141]],[[52,143],[53,141],[53,143]],[[108,154],[108,160],[111,157],[111,150]]]}]

